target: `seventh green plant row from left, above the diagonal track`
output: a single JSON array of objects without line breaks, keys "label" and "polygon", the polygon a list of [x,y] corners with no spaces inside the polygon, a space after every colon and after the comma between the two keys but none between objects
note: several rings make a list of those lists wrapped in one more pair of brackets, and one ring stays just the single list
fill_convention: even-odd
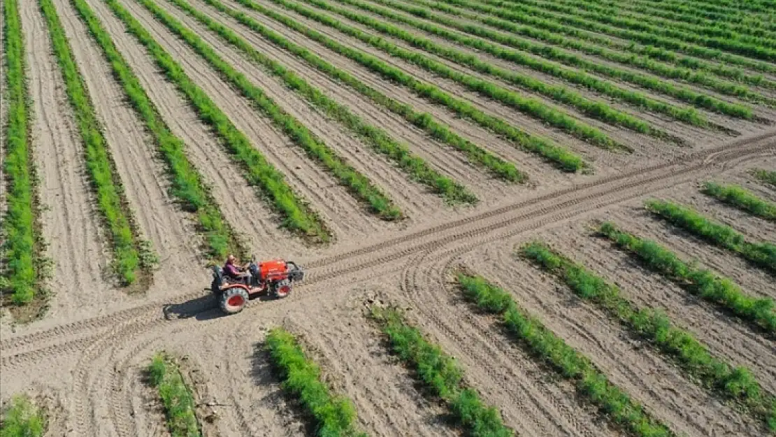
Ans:
[{"label": "seventh green plant row from left, above the diagonal track", "polygon": [[[450,130],[447,125],[439,123],[438,120],[436,120],[435,117],[431,114],[418,113],[412,108],[412,106],[398,102],[396,99],[391,99],[382,92],[379,92],[369,85],[366,85],[364,82],[359,80],[359,78],[356,78],[354,75],[348,73],[348,71],[334,66],[310,50],[307,50],[306,48],[293,43],[291,40],[287,39],[281,34],[275,32],[272,29],[269,29],[267,26],[262,25],[262,23],[258,23],[257,20],[252,19],[244,12],[237,11],[237,9],[228,8],[219,0],[204,1],[214,9],[217,9],[217,11],[223,12],[224,14],[237,20],[237,22],[241,25],[264,36],[267,40],[275,44],[276,47],[280,47],[283,50],[287,50],[289,53],[302,58],[307,62],[307,64],[310,64],[310,66],[316,68],[318,71],[321,71],[325,75],[328,75],[331,78],[335,78],[339,82],[348,85],[356,92],[359,92],[372,100],[372,102],[376,103],[377,105],[389,109],[391,112],[399,116],[402,116],[404,120],[412,123],[415,127],[421,128],[435,140],[449,144],[457,151],[461,151],[466,155],[466,158],[470,162],[482,168],[487,168],[487,170],[497,178],[510,182],[525,182],[525,180],[528,179],[528,176],[525,175],[525,173],[519,171],[518,168],[514,166],[514,164],[508,161],[504,161],[497,155],[490,153],[490,151],[487,151],[482,147],[473,144],[471,141],[466,140],[466,138],[461,137],[459,134],[456,134]],[[290,29],[294,29],[300,32],[309,29],[307,26],[302,26],[300,23],[296,23],[295,21],[288,19],[286,16],[276,14],[268,9],[266,12],[268,14],[272,14],[273,19],[278,20],[279,22],[288,26]],[[200,15],[201,12],[197,12],[197,14]]]}]

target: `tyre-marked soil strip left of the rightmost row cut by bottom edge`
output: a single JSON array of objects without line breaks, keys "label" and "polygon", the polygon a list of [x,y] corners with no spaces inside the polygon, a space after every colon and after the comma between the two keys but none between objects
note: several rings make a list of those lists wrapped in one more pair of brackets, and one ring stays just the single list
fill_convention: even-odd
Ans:
[{"label": "tyre-marked soil strip left of the rightmost row cut by bottom edge", "polygon": [[[605,426],[596,425],[590,411],[580,414],[575,408],[577,402],[571,401],[576,397],[573,387],[530,380],[526,374],[541,375],[542,369],[524,353],[516,353],[500,336],[486,335],[487,324],[477,321],[470,312],[442,315],[449,313],[443,308],[450,305],[450,279],[445,276],[452,259],[449,254],[437,258],[434,253],[419,255],[415,267],[403,273],[402,290],[422,312],[416,317],[422,320],[421,326],[428,329],[431,325],[447,340],[443,347],[466,364],[469,385],[480,392],[483,401],[501,411],[504,423],[518,435],[614,435]],[[438,261],[428,262],[431,259]],[[459,358],[462,356],[468,359]],[[515,367],[520,371],[516,372]]]}]

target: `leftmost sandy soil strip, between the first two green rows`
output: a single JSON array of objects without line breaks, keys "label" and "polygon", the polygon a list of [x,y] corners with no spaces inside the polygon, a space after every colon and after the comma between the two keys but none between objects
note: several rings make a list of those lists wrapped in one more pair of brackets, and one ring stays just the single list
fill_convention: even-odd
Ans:
[{"label": "leftmost sandy soil strip, between the first two green rows", "polygon": [[46,283],[53,293],[50,317],[67,320],[78,308],[104,305],[119,298],[120,292],[106,280],[111,255],[45,20],[33,1],[20,2],[19,15],[33,113],[30,147],[40,178],[40,222],[49,243],[46,255],[54,260],[53,276]]}]

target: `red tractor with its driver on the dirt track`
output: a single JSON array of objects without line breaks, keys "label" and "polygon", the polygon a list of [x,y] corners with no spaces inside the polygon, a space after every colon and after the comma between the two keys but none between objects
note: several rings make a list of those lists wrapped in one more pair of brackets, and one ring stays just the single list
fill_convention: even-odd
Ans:
[{"label": "red tractor with its driver on the dirt track", "polygon": [[239,278],[225,276],[220,266],[214,265],[210,290],[224,313],[235,314],[245,307],[251,297],[260,294],[278,299],[288,296],[292,283],[303,278],[304,272],[295,262],[272,259],[257,265],[251,259],[248,271]]}]

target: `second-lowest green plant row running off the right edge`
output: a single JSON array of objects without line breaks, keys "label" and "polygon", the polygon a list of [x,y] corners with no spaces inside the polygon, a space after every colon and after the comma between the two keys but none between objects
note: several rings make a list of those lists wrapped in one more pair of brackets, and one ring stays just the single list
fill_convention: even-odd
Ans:
[{"label": "second-lowest green plant row running off the right edge", "polygon": [[620,230],[611,222],[601,224],[598,233],[690,293],[715,303],[723,310],[736,314],[771,334],[776,333],[776,312],[772,298],[751,297],[732,279],[702,269],[695,265],[695,262],[686,262],[656,241],[636,237]]}]

